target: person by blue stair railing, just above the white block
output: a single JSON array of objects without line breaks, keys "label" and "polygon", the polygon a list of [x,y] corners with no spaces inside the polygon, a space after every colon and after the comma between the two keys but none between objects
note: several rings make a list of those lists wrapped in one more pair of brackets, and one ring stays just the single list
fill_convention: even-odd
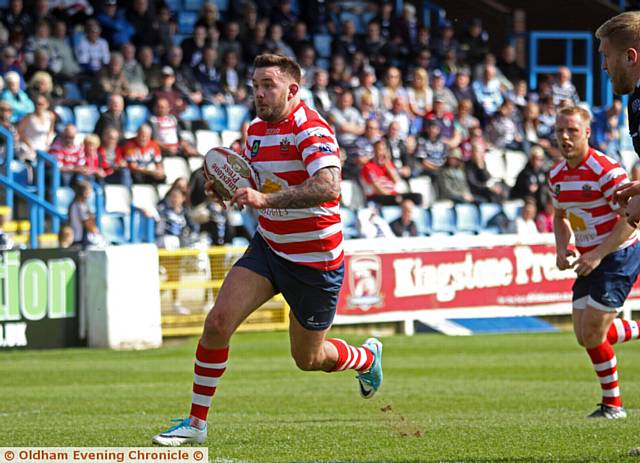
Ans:
[{"label": "person by blue stair railing, just above the white block", "polygon": [[69,205],[69,225],[73,229],[73,245],[85,248],[105,244],[100,230],[96,226],[96,217],[89,208],[91,184],[80,180],[73,185],[75,197]]}]

